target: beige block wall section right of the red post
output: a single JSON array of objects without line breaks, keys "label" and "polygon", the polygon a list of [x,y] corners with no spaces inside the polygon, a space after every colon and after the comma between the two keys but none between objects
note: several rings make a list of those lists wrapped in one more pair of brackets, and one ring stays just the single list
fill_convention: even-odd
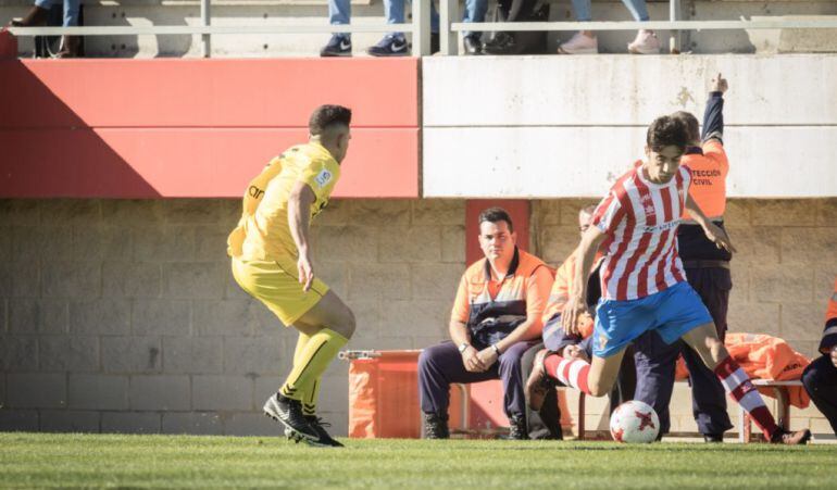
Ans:
[{"label": "beige block wall section right of the red post", "polygon": [[[595,203],[535,201],[533,249],[550,263],[561,263],[577,244],[578,210]],[[726,225],[739,251],[732,262],[729,331],[780,337],[809,357],[819,355],[825,307],[837,277],[837,199],[734,199],[727,202]],[[607,428],[607,400],[587,400],[588,428]],[[567,401],[575,407],[577,394],[567,391]],[[775,403],[769,406],[775,413]],[[729,402],[727,407],[737,426],[737,405]],[[685,384],[675,386],[671,413],[672,431],[697,431]],[[813,405],[794,409],[791,426],[830,432]]]}]

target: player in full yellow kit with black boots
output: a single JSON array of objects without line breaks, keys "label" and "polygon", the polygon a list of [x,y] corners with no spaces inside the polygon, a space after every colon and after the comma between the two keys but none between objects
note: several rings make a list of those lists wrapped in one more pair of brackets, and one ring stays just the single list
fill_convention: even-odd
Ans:
[{"label": "player in full yellow kit with black boots", "polygon": [[317,108],[309,142],[273,159],[250,183],[227,240],[238,285],[299,331],[293,368],[264,413],[285,426],[286,436],[313,445],[342,445],[316,417],[316,397],[323,372],[354,332],[354,314],[315,276],[309,224],[340,177],[350,123],[347,108]]}]

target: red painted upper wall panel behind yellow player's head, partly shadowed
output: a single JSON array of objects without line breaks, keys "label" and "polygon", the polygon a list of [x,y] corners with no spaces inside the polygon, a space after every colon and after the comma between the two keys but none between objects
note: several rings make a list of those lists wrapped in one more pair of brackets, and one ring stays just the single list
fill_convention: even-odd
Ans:
[{"label": "red painted upper wall panel behind yellow player's head, partly shadowed", "polygon": [[239,197],[352,109],[335,197],[418,197],[417,60],[0,60],[0,197]]}]

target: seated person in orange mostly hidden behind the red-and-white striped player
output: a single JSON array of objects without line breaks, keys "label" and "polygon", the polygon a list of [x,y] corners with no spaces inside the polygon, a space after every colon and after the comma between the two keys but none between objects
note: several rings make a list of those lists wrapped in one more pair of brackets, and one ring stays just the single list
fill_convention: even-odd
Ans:
[{"label": "seated person in orange mostly hidden behind the red-and-white striped player", "polygon": [[[590,227],[592,221],[592,212],[595,206],[589,205],[583,208],[578,212],[578,229],[584,234],[587,228]],[[555,281],[552,285],[552,291],[549,294],[549,302],[546,310],[544,310],[544,349],[536,355],[534,363],[542,363],[544,356],[547,353],[558,353],[565,357],[582,359],[589,361],[592,357],[592,343],[591,334],[594,319],[590,315],[585,315],[578,324],[579,335],[572,335],[564,332],[561,327],[561,312],[570,298],[570,291],[572,290],[572,281],[575,277],[575,264],[576,253],[573,252],[561,264],[555,273]],[[599,301],[601,296],[599,289],[599,274],[598,267],[601,264],[601,256],[597,256],[594,263],[594,272],[590,275],[588,281],[588,296],[587,303],[592,306]],[[534,373],[538,373],[537,369]],[[540,411],[544,401],[546,400],[549,390],[553,387],[553,381],[547,376],[529,375],[526,384],[526,397],[529,403],[529,407],[534,411]],[[622,372],[620,373],[619,380],[613,391],[611,392],[611,411],[620,405],[623,401],[630,400],[634,395],[634,386],[636,384],[636,376],[634,375],[634,365],[630,356],[625,356],[623,361]],[[559,415],[560,418],[560,415]]]}]

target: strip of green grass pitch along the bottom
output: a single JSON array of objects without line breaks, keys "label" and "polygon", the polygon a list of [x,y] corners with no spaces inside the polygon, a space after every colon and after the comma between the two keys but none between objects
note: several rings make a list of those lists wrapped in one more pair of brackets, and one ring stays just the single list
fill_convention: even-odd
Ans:
[{"label": "strip of green grass pitch along the bottom", "polygon": [[837,445],[0,434],[0,488],[814,488]]}]

